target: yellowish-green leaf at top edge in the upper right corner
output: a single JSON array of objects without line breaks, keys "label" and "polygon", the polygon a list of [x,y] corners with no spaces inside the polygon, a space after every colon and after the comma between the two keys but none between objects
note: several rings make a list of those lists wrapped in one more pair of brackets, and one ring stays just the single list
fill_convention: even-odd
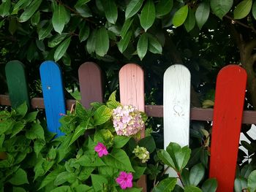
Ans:
[{"label": "yellowish-green leaf at top edge in the upper right corner", "polygon": [[250,10],[252,9],[252,0],[241,1],[234,10],[234,18],[242,19],[245,18]]}]

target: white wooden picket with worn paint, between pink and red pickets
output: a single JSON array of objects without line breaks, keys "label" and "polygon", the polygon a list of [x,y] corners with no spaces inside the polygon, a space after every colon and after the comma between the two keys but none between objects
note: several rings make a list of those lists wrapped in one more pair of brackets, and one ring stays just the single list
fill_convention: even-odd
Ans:
[{"label": "white wooden picket with worn paint, between pink and red pickets", "polygon": [[[189,145],[190,72],[186,66],[170,66],[164,74],[164,147],[176,142]],[[170,177],[177,177],[168,169]]]}]

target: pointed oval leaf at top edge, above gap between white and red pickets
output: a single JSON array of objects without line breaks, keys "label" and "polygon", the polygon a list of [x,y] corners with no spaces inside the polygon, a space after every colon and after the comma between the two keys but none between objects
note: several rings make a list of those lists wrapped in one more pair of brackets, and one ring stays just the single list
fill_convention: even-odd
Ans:
[{"label": "pointed oval leaf at top edge, above gap between white and red pickets", "polygon": [[210,4],[208,1],[203,1],[199,4],[197,7],[197,10],[195,11],[195,20],[197,21],[197,26],[201,29],[203,25],[208,20],[208,17],[210,15]]}]

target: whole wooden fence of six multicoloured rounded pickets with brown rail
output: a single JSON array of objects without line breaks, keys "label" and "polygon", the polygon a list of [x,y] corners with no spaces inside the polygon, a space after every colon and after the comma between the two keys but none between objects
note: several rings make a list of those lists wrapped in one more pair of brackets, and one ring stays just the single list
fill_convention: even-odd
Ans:
[{"label": "whole wooden fence of six multicoloured rounded pickets with brown rail", "polygon": [[[29,99],[23,64],[10,61],[6,65],[9,96],[0,95],[0,105],[17,107],[26,101],[31,108],[45,109],[48,129],[61,135],[59,118],[75,100],[65,100],[61,69],[53,61],[40,66],[43,98]],[[81,103],[103,101],[102,75],[97,64],[86,62],[78,70]],[[256,123],[255,111],[244,111],[246,72],[240,66],[229,65],[217,77],[214,110],[190,107],[190,73],[182,65],[170,66],[164,75],[164,105],[145,105],[143,69],[127,64],[119,72],[121,104],[132,104],[149,117],[164,118],[165,147],[170,142],[189,145],[189,121],[213,120],[209,177],[218,180],[217,191],[233,191],[241,123]],[[145,129],[142,131],[145,136]],[[146,191],[146,177],[138,185]]]}]

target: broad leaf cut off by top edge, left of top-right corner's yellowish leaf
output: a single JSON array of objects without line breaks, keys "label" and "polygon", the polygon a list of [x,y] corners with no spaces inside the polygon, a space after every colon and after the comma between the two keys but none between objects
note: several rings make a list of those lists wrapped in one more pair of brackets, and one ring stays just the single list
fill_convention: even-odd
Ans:
[{"label": "broad leaf cut off by top edge, left of top-right corner's yellowish leaf", "polygon": [[233,5],[233,0],[211,0],[211,10],[220,19],[229,12]]}]

